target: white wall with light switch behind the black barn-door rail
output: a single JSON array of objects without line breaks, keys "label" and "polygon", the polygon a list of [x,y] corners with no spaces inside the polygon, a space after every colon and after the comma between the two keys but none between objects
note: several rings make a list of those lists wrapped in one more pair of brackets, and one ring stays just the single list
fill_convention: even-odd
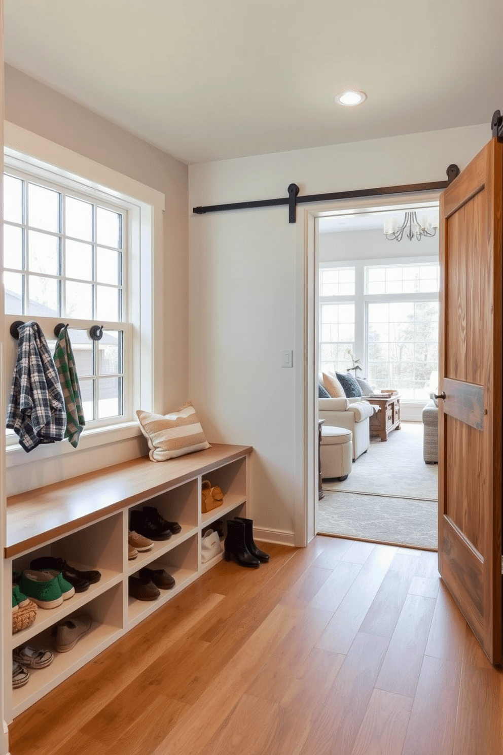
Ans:
[{"label": "white wall with light switch behind the black barn-door rail", "polygon": [[[464,168],[490,138],[488,123],[192,165],[189,208],[287,196],[289,183],[305,195],[445,180],[450,163]],[[189,393],[211,436],[255,448],[260,534],[297,544],[314,510],[311,496],[306,528],[306,208],[296,225],[286,207],[189,217]],[[294,349],[293,369],[281,368],[284,349]]]}]

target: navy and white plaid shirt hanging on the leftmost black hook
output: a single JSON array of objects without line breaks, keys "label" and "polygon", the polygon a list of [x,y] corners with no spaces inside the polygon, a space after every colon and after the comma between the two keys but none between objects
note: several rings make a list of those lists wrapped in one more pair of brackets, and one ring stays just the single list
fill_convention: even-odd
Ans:
[{"label": "navy and white plaid shirt hanging on the leftmost black hook", "polygon": [[19,326],[7,427],[28,453],[39,443],[63,440],[66,412],[54,359],[38,322]]}]

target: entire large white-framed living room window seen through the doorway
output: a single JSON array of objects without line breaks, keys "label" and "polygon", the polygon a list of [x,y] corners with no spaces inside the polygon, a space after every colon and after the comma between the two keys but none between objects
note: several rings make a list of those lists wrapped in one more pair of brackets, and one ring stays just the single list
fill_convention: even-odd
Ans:
[{"label": "entire large white-framed living room window seen through the doorway", "polygon": [[[393,388],[402,399],[424,402],[438,369],[437,260],[394,260],[351,268],[353,294],[330,290],[344,267],[320,269],[321,371],[346,371],[359,359],[375,390]],[[330,293],[329,293],[330,291]]]}]

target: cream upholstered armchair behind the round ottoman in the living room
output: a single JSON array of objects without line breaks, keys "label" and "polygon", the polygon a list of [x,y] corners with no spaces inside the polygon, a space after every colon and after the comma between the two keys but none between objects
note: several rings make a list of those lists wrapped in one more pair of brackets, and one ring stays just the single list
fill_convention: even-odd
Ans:
[{"label": "cream upholstered armchair behind the round ottoman in the living room", "polygon": [[327,427],[345,427],[353,433],[353,461],[370,445],[370,417],[374,407],[363,399],[318,399],[318,417]]}]

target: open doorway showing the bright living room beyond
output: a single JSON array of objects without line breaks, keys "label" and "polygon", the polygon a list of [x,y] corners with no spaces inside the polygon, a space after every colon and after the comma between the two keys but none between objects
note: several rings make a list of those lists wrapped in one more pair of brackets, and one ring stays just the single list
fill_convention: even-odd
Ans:
[{"label": "open doorway showing the bright living room beyond", "polygon": [[[428,235],[385,236],[409,211]],[[438,381],[437,213],[433,199],[317,217],[319,534],[437,550],[437,464],[422,417]]]}]

